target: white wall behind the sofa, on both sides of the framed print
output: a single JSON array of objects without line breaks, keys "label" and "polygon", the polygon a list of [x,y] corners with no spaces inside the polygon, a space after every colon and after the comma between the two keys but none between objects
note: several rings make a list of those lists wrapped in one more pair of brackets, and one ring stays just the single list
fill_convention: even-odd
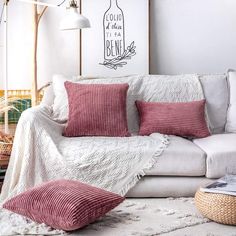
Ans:
[{"label": "white wall behind the sofa, on both sides of the framed print", "polygon": [[[150,0],[151,73],[224,73],[236,68],[235,0]],[[52,2],[52,1],[51,1]],[[39,86],[52,74],[79,73],[78,32],[61,32],[63,8],[50,8],[40,27]],[[9,6],[9,87],[31,85],[31,7]],[[2,29],[0,30],[0,45]],[[3,88],[0,47],[0,89]]]}]

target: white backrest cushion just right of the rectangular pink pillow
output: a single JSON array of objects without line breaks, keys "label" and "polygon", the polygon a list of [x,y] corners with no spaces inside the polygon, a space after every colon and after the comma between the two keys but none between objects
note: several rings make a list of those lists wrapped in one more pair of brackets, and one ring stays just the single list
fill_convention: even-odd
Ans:
[{"label": "white backrest cushion just right of the rectangular pink pillow", "polygon": [[213,134],[225,130],[229,101],[226,75],[200,75],[206,105],[209,125]]}]

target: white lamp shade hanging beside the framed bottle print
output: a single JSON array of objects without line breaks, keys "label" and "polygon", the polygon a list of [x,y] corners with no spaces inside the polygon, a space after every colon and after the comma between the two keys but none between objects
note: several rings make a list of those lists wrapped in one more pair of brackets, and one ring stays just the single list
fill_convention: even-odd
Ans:
[{"label": "white lamp shade hanging beside the framed bottle print", "polygon": [[89,20],[79,14],[77,8],[70,7],[67,9],[66,16],[60,22],[60,30],[75,30],[90,28]]}]

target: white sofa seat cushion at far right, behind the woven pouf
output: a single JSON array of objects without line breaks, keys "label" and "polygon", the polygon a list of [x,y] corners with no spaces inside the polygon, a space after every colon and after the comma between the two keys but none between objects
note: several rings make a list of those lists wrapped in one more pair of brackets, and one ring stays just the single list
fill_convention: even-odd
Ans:
[{"label": "white sofa seat cushion at far right, behind the woven pouf", "polygon": [[195,139],[207,154],[206,177],[220,178],[236,168],[236,134],[217,134],[203,139]]}]

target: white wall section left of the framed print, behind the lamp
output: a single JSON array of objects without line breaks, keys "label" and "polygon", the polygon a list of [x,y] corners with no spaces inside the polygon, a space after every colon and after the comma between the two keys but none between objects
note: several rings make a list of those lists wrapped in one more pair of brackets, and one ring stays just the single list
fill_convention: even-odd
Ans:
[{"label": "white wall section left of the framed print, behind the lamp", "polygon": [[[52,1],[51,1],[52,2]],[[32,10],[27,3],[11,1],[9,4],[9,88],[29,89],[32,75]],[[79,33],[60,31],[59,21],[64,8],[48,8],[40,23],[38,81],[39,87],[51,80],[55,73],[79,73]],[[0,45],[3,44],[2,27]],[[2,48],[0,48],[2,49]],[[3,53],[1,51],[0,68]],[[3,73],[0,71],[0,89]]]}]

